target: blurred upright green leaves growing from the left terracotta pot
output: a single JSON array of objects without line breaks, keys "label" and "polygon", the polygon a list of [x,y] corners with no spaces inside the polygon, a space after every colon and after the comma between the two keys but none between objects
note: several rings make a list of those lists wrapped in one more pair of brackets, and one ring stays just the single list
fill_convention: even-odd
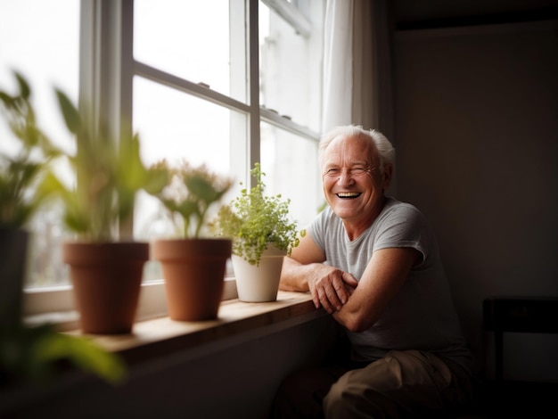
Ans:
[{"label": "blurred upright green leaves growing from the left terracotta pot", "polygon": [[93,242],[113,242],[119,226],[134,210],[135,193],[159,193],[168,183],[168,172],[146,168],[140,157],[137,134],[123,130],[119,138],[108,135],[103,126],[91,127],[70,102],[56,90],[63,119],[76,136],[77,152],[67,156],[77,177],[76,187],[64,185],[51,172],[45,190],[56,193],[64,203],[64,223],[80,238]]}]

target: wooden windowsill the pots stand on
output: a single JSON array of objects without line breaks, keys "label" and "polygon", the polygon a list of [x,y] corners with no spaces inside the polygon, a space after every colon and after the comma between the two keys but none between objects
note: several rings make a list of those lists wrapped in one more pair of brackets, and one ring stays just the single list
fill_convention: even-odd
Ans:
[{"label": "wooden windowsill the pots stand on", "polygon": [[272,302],[224,300],[216,320],[180,322],[160,317],[135,323],[130,334],[91,337],[122,355],[128,364],[136,364],[173,354],[207,355],[325,315],[323,309],[314,307],[310,293],[280,291]]}]

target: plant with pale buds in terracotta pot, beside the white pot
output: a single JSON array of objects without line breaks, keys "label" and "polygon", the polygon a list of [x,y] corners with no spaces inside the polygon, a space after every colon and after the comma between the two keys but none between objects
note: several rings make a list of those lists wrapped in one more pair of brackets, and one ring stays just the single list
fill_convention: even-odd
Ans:
[{"label": "plant with pale buds in terracotta pot, beside the white pot", "polygon": [[233,182],[187,161],[178,168],[163,161],[156,168],[170,174],[170,183],[157,196],[177,230],[175,237],[152,243],[165,279],[168,316],[179,321],[217,318],[232,241],[206,237],[206,219]]}]

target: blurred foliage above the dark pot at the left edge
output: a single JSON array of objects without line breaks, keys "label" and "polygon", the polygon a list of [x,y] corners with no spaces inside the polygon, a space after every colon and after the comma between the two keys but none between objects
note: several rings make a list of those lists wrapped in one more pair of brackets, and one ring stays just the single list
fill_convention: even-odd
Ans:
[{"label": "blurred foliage above the dark pot at the left edge", "polygon": [[[62,152],[37,127],[27,80],[18,72],[14,76],[19,93],[0,91],[0,111],[16,141],[15,152],[0,152],[0,226],[18,228],[47,198],[39,184],[48,162]],[[1,141],[6,145],[7,139]]]}]

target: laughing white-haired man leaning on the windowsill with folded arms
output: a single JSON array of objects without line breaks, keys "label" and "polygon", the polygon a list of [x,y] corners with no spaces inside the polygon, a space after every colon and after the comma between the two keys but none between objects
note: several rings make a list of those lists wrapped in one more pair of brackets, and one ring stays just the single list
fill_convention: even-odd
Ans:
[{"label": "laughing white-haired man leaning on the windowsill with folded arms", "polygon": [[472,397],[472,354],[431,226],[386,195],[390,141],[336,127],[320,153],[328,206],[285,258],[281,289],[311,292],[350,350],[335,365],[288,377],[275,417],[431,417],[463,406]]}]

